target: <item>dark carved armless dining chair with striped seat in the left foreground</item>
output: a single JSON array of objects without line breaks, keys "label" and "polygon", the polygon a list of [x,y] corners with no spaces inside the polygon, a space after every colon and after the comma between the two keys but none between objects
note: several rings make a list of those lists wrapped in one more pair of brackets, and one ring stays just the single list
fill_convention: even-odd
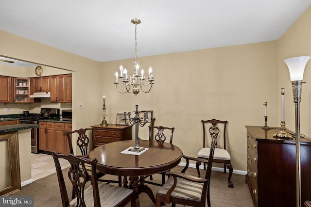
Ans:
[{"label": "dark carved armless dining chair with striped seat in the left foreground", "polygon": [[[133,190],[98,182],[96,163],[97,159],[86,159],[85,156],[60,155],[52,153],[63,207],[124,207],[132,200]],[[75,191],[75,198],[69,202],[64,175],[59,159],[66,159],[70,163],[68,177]],[[91,171],[86,170],[91,166]],[[65,174],[66,175],[66,174]],[[90,186],[86,184],[90,182]]]}]

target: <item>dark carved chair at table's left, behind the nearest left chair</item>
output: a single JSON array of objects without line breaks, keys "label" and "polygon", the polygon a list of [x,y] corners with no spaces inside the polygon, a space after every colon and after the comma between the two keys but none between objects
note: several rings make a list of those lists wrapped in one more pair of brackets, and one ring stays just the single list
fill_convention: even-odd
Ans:
[{"label": "dark carved chair at table's left, behind the nearest left chair", "polygon": [[[71,131],[71,132],[67,132],[67,138],[68,138],[68,143],[69,143],[69,152],[70,154],[73,154],[73,148],[72,148],[72,141],[71,141],[71,136],[72,134],[76,133],[78,134],[78,138],[77,138],[77,146],[79,147],[80,151],[81,151],[81,155],[85,156],[86,158],[88,158],[88,152],[87,152],[87,147],[88,147],[88,143],[89,143],[89,138],[87,137],[86,135],[86,132],[88,130],[91,130],[92,128],[80,128],[78,130],[74,130],[74,131]],[[89,170],[90,172],[90,166],[88,166],[86,164],[86,170]],[[121,183],[121,176],[118,177],[118,180],[105,180],[105,179],[102,179],[102,177],[104,176],[105,174],[100,172],[100,171],[97,171],[97,177],[99,178],[99,181],[102,181],[102,182],[107,182],[107,183],[118,183],[119,186],[121,187],[122,183]],[[72,193],[74,193],[74,191],[72,191]],[[74,194],[72,194],[72,198],[74,198]]]}]

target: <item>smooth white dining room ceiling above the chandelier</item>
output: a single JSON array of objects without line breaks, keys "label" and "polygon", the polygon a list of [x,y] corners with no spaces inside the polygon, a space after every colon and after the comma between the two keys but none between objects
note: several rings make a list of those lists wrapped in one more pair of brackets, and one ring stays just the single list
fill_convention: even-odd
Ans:
[{"label": "smooth white dining room ceiling above the chandelier", "polygon": [[277,40],[311,0],[0,0],[0,30],[99,62]]}]

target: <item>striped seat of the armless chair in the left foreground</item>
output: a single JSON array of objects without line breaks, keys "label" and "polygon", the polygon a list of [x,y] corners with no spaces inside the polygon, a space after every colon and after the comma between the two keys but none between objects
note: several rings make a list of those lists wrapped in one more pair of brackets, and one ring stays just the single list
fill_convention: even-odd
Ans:
[{"label": "striped seat of the armless chair in the left foreground", "polygon": [[[114,207],[133,192],[130,189],[121,188],[102,182],[98,182],[98,190],[100,192],[99,195],[102,207]],[[87,207],[94,207],[92,186],[88,187],[84,191],[84,199]],[[69,205],[70,207],[75,207],[77,205],[77,198],[74,198],[69,203]]]}]

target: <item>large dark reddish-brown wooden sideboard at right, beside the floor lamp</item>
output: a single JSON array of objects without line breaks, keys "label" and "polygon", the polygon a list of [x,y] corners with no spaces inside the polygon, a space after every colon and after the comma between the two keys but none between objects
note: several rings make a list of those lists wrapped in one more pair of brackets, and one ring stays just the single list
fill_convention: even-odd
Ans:
[{"label": "large dark reddish-brown wooden sideboard at right, beside the floor lamp", "polygon": [[[273,137],[279,128],[247,129],[247,174],[255,207],[296,206],[296,146],[294,140]],[[311,200],[311,141],[301,138],[301,201]]]}]

